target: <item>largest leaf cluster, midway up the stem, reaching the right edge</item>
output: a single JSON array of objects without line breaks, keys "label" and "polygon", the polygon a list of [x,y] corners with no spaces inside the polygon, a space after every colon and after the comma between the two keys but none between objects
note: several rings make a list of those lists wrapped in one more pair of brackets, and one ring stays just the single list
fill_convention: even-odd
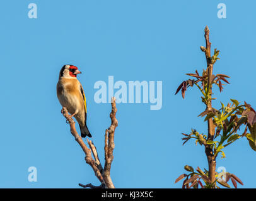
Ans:
[{"label": "largest leaf cluster, midway up the stem, reaching the right edge", "polygon": [[[207,140],[205,134],[199,134],[195,129],[189,134],[182,133],[185,138],[183,144],[187,143],[189,139],[195,139],[195,144],[206,146],[211,144],[214,151],[214,156],[217,157],[221,153],[222,158],[225,158],[223,148],[234,143],[237,139],[246,136],[250,146],[256,151],[256,112],[254,109],[245,102],[241,105],[238,100],[231,99],[231,103],[227,106],[221,102],[220,109],[206,110],[199,114],[199,117],[204,117],[204,121],[213,118],[214,125],[216,126],[214,141]],[[243,128],[243,132],[239,132]],[[247,131],[250,133],[247,133]]]}]

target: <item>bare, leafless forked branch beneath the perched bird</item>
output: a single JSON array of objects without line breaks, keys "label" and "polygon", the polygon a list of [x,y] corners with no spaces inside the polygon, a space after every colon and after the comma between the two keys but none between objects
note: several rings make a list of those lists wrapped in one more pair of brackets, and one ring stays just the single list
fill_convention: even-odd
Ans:
[{"label": "bare, leafless forked branch beneath the perched bird", "polygon": [[115,104],[115,97],[112,97],[112,111],[110,112],[111,125],[108,129],[105,130],[105,166],[102,167],[100,163],[100,159],[98,158],[98,152],[96,150],[95,145],[92,141],[87,139],[88,146],[84,143],[81,136],[76,131],[76,126],[73,118],[67,112],[66,107],[63,107],[61,113],[66,118],[66,121],[69,123],[71,134],[73,134],[75,140],[81,146],[85,154],[85,161],[88,163],[93,169],[95,176],[100,181],[99,186],[92,185],[88,183],[83,185],[79,183],[79,186],[83,188],[115,188],[113,185],[112,179],[110,177],[110,169],[113,161],[113,149],[115,148],[114,136],[115,136],[115,128],[118,126],[118,121],[115,117],[117,113],[117,107]]}]

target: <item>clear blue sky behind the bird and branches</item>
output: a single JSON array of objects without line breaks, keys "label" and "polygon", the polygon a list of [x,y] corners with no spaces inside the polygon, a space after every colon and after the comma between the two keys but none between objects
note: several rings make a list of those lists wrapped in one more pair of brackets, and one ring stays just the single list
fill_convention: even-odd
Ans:
[{"label": "clear blue sky behind the bird and branches", "polygon": [[[37,4],[38,18],[28,18],[28,4]],[[227,18],[217,17],[225,3]],[[93,99],[98,80],[162,81],[163,106],[117,104],[112,180],[117,188],[180,188],[174,184],[184,165],[207,168],[202,146],[182,146],[181,133],[206,133],[199,92],[174,95],[185,73],[206,68],[204,26],[213,48],[220,50],[215,73],[230,75],[231,85],[214,106],[230,98],[256,107],[254,1],[16,0],[0,3],[1,188],[79,188],[98,185],[84,153],[69,132],[55,94],[59,70],[76,65],[88,105],[88,128],[103,163],[103,136],[110,126],[110,104]],[[78,126],[76,124],[76,126]],[[77,127],[78,128],[78,127]],[[243,182],[255,187],[256,153],[247,139],[226,148],[218,158]],[[37,182],[28,182],[28,168],[37,167]],[[241,188],[241,185],[239,185]]]}]

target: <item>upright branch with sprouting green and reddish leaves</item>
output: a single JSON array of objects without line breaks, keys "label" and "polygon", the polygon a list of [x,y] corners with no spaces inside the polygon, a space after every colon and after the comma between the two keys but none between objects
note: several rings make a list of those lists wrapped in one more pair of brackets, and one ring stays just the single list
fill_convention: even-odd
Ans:
[{"label": "upright branch with sprouting green and reddish leaves", "polygon": [[[186,165],[185,170],[190,173],[180,175],[175,181],[178,182],[185,178],[182,188],[220,188],[219,185],[230,188],[228,181],[231,180],[234,187],[237,188],[237,182],[243,185],[243,182],[234,174],[226,173],[226,177],[220,176],[216,173],[216,158],[221,153],[221,158],[225,158],[223,149],[230,144],[233,144],[237,139],[246,136],[251,148],[256,151],[256,112],[244,102],[240,104],[238,100],[230,99],[231,103],[226,106],[221,102],[220,109],[212,107],[212,87],[217,85],[219,91],[223,91],[223,85],[230,84],[228,82],[228,75],[218,73],[214,75],[214,63],[219,60],[219,50],[214,49],[214,55],[211,56],[211,42],[209,40],[209,28],[206,26],[204,30],[204,38],[206,40],[206,47],[201,46],[201,51],[205,53],[207,68],[202,70],[202,75],[197,70],[195,73],[187,73],[193,79],[185,80],[178,86],[175,94],[180,90],[183,99],[185,98],[185,91],[189,87],[196,87],[200,90],[202,96],[201,100],[206,106],[206,110],[199,114],[199,117],[204,117],[207,121],[207,134],[199,133],[196,129],[192,129],[189,134],[182,133],[185,137],[182,138],[183,144],[190,139],[195,139],[195,144],[204,146],[206,158],[208,161],[208,170],[202,171],[199,167],[194,171],[192,166]],[[243,132],[239,134],[239,131]],[[250,133],[247,133],[249,129]],[[221,179],[225,178],[225,180]],[[204,184],[203,184],[204,183]]]}]

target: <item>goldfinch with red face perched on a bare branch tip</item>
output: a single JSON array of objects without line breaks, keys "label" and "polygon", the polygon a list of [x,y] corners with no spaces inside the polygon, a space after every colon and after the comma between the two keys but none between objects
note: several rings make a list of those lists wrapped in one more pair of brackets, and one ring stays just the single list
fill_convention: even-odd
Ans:
[{"label": "goldfinch with red face perched on a bare branch tip", "polygon": [[57,82],[57,97],[62,107],[66,107],[71,117],[78,121],[81,137],[91,138],[91,133],[86,125],[86,98],[84,90],[76,78],[81,72],[74,65],[64,65],[59,72],[59,81]]}]

